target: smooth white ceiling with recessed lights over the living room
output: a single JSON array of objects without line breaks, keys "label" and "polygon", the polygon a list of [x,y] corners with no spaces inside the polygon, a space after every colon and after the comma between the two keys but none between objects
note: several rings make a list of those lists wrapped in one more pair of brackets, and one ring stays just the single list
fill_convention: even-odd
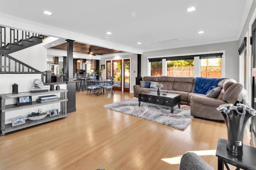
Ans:
[{"label": "smooth white ceiling with recessed lights over the living room", "polygon": [[[238,40],[251,4],[252,0],[0,0],[0,13],[55,28],[60,38],[69,38],[64,33],[68,31],[86,36],[79,40],[82,43],[136,53]],[[187,12],[191,6],[196,10]],[[45,10],[52,16],[43,14]],[[158,43],[172,39],[179,40]]]}]

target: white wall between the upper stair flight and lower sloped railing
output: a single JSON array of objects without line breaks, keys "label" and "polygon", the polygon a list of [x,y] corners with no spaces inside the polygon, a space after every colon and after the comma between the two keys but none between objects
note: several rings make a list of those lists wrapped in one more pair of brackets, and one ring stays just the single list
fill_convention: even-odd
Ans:
[{"label": "white wall between the upper stair flight and lower sloped railing", "polygon": [[47,49],[42,46],[42,43],[10,53],[9,55],[41,72],[47,69]]}]

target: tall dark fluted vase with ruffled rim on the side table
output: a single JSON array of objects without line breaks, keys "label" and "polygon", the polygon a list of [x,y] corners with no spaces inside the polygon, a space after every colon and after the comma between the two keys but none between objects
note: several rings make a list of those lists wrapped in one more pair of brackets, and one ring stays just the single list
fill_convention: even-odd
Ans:
[{"label": "tall dark fluted vase with ruffled rim on the side table", "polygon": [[244,104],[222,104],[217,110],[222,113],[227,126],[227,150],[234,155],[242,155],[244,129],[250,117],[256,115],[256,110]]}]

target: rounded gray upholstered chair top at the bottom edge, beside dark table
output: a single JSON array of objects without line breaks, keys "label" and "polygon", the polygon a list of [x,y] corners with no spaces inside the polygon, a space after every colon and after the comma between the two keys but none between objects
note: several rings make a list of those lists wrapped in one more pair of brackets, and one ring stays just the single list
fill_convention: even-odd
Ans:
[{"label": "rounded gray upholstered chair top at the bottom edge, beside dark table", "polygon": [[194,152],[187,152],[180,160],[180,170],[213,170],[213,168]]}]

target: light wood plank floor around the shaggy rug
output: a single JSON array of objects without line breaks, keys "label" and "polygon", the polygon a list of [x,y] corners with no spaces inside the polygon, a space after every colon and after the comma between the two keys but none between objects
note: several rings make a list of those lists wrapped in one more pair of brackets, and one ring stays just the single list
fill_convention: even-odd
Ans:
[{"label": "light wood plank floor around the shaggy rug", "polygon": [[102,107],[132,97],[76,92],[76,112],[66,119],[0,137],[0,169],[178,170],[188,151],[217,169],[215,149],[219,137],[227,138],[225,123],[194,118],[181,131]]}]

